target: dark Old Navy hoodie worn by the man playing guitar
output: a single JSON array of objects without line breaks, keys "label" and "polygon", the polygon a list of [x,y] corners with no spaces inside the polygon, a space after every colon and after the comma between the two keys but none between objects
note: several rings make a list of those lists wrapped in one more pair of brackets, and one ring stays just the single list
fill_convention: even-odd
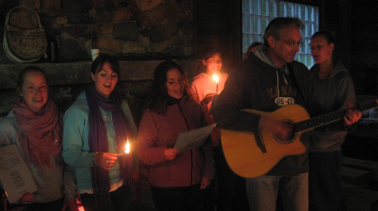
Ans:
[{"label": "dark Old Navy hoodie worn by the man playing guitar", "polygon": [[[307,67],[297,61],[287,63],[292,74],[283,76],[283,72],[271,64],[264,49],[261,50],[255,49],[247,60],[230,72],[214,108],[213,117],[218,122],[218,128],[257,131],[260,116],[240,109],[274,111],[279,108],[277,97],[288,97],[293,99],[293,103],[305,104],[310,75]],[[307,146],[306,142],[304,144]],[[284,157],[267,175],[294,175],[305,172],[308,172],[307,153]]]}]

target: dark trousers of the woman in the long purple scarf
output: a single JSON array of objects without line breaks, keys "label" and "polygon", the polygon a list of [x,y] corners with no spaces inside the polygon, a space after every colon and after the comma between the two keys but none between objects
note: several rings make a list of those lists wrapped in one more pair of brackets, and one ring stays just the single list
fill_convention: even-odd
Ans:
[{"label": "dark trousers of the woman in the long purple scarf", "polygon": [[110,205],[96,202],[93,194],[80,194],[85,211],[127,211],[131,210],[130,186],[121,186],[110,192]]}]

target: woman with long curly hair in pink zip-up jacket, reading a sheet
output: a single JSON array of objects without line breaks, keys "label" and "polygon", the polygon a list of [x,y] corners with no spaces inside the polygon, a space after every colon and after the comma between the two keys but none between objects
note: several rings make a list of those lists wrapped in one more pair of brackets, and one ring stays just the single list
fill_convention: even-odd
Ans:
[{"label": "woman with long curly hair in pink zip-up jacket, reading a sheet", "polygon": [[180,154],[172,148],[179,133],[207,125],[191,93],[180,65],[165,61],[156,67],[136,144],[139,158],[152,165],[151,193],[158,211],[200,210],[200,189],[210,185],[214,177],[210,139]]}]

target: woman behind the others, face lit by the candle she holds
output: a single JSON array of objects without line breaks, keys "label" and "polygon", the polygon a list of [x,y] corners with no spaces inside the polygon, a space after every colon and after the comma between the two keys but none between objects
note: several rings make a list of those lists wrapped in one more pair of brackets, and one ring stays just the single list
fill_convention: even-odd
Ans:
[{"label": "woman behind the others, face lit by the candle she holds", "polygon": [[[209,124],[214,123],[212,116],[209,114],[211,104],[215,94],[223,90],[228,74],[221,72],[222,53],[220,49],[212,46],[204,49],[201,57],[200,74],[194,77],[192,81],[192,90],[197,95],[197,101],[202,106],[206,120]],[[213,76],[217,77],[213,77]],[[214,79],[215,78],[215,79]],[[216,80],[218,78],[218,82]],[[217,211],[218,210],[249,210],[246,196],[245,179],[240,178],[228,167],[220,145],[220,129],[214,128],[211,131],[211,140],[214,149],[215,169],[217,172]],[[206,201],[213,202],[215,187],[209,187],[206,190],[204,206]],[[206,210],[214,210],[209,207]]]}]

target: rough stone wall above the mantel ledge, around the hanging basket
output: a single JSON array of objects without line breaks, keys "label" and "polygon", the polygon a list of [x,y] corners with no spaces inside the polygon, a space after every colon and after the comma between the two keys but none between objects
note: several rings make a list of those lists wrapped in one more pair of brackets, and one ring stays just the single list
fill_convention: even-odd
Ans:
[{"label": "rough stone wall above the mantel ledge, around the hanging basket", "polygon": [[[33,9],[40,16],[47,39],[58,40],[60,62],[90,60],[92,48],[123,59],[143,60],[193,53],[192,0],[15,2],[0,2],[0,26],[14,6]],[[0,57],[0,62],[10,63],[4,52]]]}]

